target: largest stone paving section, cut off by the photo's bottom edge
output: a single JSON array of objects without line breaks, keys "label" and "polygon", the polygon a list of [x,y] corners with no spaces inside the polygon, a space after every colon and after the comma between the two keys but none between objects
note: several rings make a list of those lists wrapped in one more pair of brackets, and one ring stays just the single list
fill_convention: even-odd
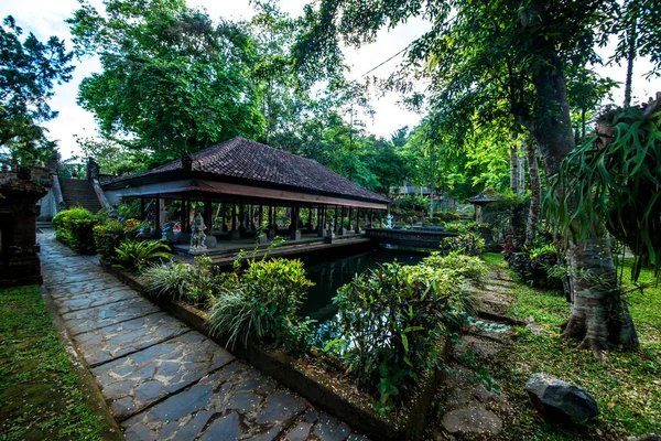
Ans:
[{"label": "largest stone paving section, cut off by the photo's bottom edge", "polygon": [[[234,362],[126,420],[127,440],[273,440],[307,402]],[[198,438],[199,437],[199,438]]]}]

